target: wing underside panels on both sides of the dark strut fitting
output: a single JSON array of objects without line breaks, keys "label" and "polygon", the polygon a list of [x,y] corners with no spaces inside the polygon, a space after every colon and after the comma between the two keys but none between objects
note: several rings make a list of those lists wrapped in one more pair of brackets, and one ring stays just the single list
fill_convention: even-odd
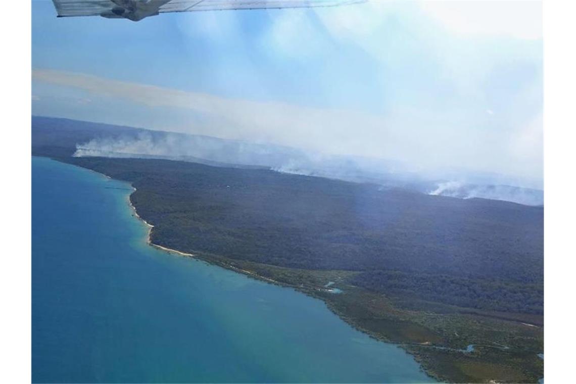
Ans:
[{"label": "wing underside panels on both sides of the dark strut fitting", "polygon": [[[111,0],[52,0],[59,17],[99,16],[116,7]],[[234,9],[329,7],[363,0],[171,0],[158,8],[160,13]]]}]

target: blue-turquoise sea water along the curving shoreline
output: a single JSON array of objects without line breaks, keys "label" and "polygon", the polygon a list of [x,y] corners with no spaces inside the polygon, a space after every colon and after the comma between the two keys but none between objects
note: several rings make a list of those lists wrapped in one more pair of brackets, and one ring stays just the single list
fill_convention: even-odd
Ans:
[{"label": "blue-turquoise sea water along the curving shoreline", "polygon": [[317,299],[146,245],[130,192],[33,158],[33,382],[430,382]]}]

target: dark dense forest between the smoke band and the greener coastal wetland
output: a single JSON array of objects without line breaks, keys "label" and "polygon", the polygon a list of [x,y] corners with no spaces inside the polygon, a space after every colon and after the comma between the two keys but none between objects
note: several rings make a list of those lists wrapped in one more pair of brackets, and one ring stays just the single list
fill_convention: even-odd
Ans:
[{"label": "dark dense forest between the smoke band and the greener coastal wetland", "polygon": [[137,188],[132,203],[154,225],[155,244],[281,267],[359,271],[355,285],[385,294],[543,311],[543,207],[267,169],[73,158],[75,145],[94,136],[74,127],[54,134],[33,125],[32,154],[130,181]]}]

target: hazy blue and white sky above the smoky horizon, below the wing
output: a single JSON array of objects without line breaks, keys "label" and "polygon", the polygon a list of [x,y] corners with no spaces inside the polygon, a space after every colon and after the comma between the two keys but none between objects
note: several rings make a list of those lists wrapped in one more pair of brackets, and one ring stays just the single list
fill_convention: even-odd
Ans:
[{"label": "hazy blue and white sky above the smoky horizon, below the wing", "polygon": [[32,2],[32,113],[543,178],[540,2],[56,18]]}]

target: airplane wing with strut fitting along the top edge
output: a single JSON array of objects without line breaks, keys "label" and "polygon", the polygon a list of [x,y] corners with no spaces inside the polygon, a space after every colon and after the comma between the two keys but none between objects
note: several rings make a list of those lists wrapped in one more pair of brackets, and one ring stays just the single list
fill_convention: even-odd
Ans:
[{"label": "airplane wing with strut fitting along the top edge", "polygon": [[103,16],[139,21],[159,13],[329,7],[365,0],[52,0],[58,17]]}]

